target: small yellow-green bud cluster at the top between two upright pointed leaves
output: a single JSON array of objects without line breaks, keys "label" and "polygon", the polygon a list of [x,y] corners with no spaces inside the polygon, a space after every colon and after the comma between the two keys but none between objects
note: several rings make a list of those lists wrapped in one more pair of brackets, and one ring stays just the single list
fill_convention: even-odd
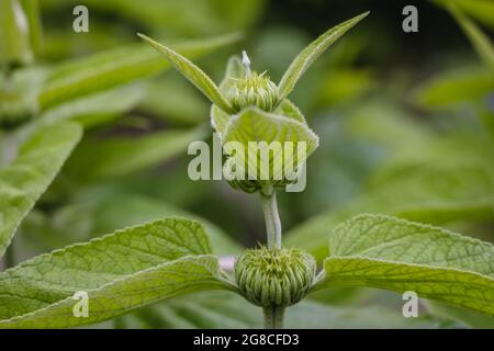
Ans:
[{"label": "small yellow-green bud cluster at the top between two upright pointed leaves", "polygon": [[236,81],[229,101],[236,111],[258,106],[269,112],[278,103],[278,87],[265,73],[251,72]]}]

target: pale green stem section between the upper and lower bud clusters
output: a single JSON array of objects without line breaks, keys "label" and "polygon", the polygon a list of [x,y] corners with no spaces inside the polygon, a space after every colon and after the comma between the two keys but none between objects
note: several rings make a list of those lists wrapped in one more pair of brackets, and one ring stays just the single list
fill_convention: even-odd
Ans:
[{"label": "pale green stem section between the upper and lower bud clusters", "polygon": [[266,185],[260,192],[262,211],[265,213],[268,249],[281,249],[281,220],[278,213],[277,193],[272,184]]}]

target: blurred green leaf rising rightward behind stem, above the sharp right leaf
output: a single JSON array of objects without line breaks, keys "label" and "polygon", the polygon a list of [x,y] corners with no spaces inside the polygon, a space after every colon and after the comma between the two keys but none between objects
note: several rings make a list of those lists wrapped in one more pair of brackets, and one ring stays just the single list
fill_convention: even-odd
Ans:
[{"label": "blurred green leaf rising rightward behind stem, above the sharp right leaf", "polygon": [[291,229],[284,244],[304,248],[323,259],[327,256],[327,233],[357,214],[389,214],[428,224],[492,218],[493,197],[492,174],[483,166],[429,162],[407,169],[338,211],[310,218]]}]

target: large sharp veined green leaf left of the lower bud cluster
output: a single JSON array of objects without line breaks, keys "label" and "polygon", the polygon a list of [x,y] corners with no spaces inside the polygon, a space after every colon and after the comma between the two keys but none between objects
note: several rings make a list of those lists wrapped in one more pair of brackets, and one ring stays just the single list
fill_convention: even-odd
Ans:
[{"label": "large sharp veined green leaf left of the lower bud cluster", "polygon": [[[197,222],[165,218],[38,256],[0,273],[0,327],[59,328],[91,324],[159,299],[232,288]],[[75,292],[89,295],[76,318]]]}]

